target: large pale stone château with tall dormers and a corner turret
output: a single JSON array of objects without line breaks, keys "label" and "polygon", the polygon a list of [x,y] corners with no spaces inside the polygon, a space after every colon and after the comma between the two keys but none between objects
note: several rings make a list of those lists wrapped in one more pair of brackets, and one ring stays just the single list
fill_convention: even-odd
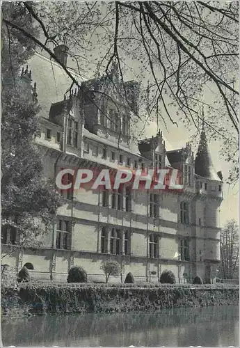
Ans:
[{"label": "large pale stone ch\u00e2teau with tall dormers and a corner turret", "polygon": [[[63,48],[55,53],[67,65]],[[89,280],[101,281],[102,262],[117,260],[123,280],[131,271],[137,280],[159,281],[161,272],[169,269],[179,282],[196,275],[213,281],[220,262],[223,182],[221,172],[214,170],[204,127],[195,157],[190,143],[168,150],[158,130],[134,147],[130,123],[138,113],[139,86],[134,81],[119,84],[114,64],[109,77],[89,81],[72,72],[81,88],[71,86],[61,66],[41,54],[36,53],[22,71],[26,84],[31,81],[29,69],[42,107],[35,143],[44,155],[46,177],[56,177],[61,168],[177,168],[184,190],[62,191],[64,204],[42,237],[42,247],[16,251],[5,262],[17,269],[30,262],[33,276],[45,280],[66,280],[70,267],[79,265]],[[120,88],[127,93],[127,103]],[[2,236],[3,252],[9,241],[9,235]]]}]

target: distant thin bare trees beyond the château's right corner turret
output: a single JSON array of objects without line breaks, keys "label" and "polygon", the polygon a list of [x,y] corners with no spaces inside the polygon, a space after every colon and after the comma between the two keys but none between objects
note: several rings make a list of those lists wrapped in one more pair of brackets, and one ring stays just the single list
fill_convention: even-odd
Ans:
[{"label": "distant thin bare trees beyond the ch\u00e2teau's right corner turret", "polygon": [[221,267],[218,278],[239,278],[239,226],[234,219],[221,230]]}]

